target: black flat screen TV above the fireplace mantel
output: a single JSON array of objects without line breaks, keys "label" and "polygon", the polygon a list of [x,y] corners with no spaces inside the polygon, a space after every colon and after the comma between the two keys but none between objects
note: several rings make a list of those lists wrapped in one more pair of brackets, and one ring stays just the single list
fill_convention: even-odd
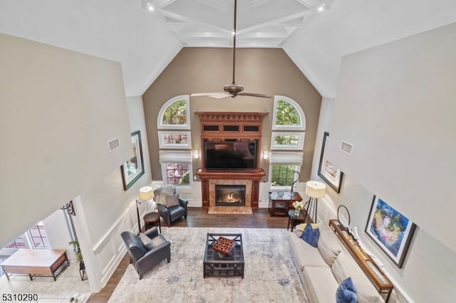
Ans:
[{"label": "black flat screen TV above the fireplace mantel", "polygon": [[204,168],[214,171],[257,169],[257,141],[205,141]]}]

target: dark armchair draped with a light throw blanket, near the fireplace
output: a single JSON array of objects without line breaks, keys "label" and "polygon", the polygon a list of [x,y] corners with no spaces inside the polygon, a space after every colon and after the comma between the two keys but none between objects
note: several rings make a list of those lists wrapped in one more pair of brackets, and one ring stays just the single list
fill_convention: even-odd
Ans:
[{"label": "dark armchair draped with a light throw blanket, near the fireplace", "polygon": [[187,219],[188,201],[176,193],[176,186],[165,185],[155,189],[154,201],[157,203],[158,213],[166,221],[168,227],[177,219]]}]

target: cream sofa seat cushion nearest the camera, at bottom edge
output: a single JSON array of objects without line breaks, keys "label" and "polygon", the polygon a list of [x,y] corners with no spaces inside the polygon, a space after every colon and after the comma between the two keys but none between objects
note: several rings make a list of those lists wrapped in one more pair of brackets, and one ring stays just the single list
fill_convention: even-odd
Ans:
[{"label": "cream sofa seat cushion nearest the camera, at bottom edge", "polygon": [[[309,245],[308,245],[309,246]],[[305,267],[303,285],[309,302],[336,302],[336,289],[339,286],[329,267]]]}]

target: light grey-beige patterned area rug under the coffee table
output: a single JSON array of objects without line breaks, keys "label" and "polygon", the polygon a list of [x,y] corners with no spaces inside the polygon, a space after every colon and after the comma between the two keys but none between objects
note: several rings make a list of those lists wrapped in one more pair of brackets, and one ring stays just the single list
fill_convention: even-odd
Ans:
[{"label": "light grey-beige patterned area rug under the coffee table", "polygon": [[[242,233],[242,277],[203,278],[207,233]],[[279,228],[162,228],[171,262],[162,261],[142,280],[129,265],[108,302],[309,302]]]}]

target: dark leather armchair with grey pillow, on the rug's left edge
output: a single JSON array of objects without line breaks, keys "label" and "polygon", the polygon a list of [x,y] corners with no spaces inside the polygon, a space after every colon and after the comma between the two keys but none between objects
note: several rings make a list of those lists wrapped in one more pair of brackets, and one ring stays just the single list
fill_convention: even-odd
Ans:
[{"label": "dark leather armchair with grey pillow, on the rug's left edge", "polygon": [[[121,233],[123,242],[127,246],[130,263],[142,279],[142,275],[152,267],[167,259],[171,262],[171,243],[158,233],[157,227],[147,230],[138,236],[130,231]],[[140,237],[145,237],[147,246]]]}]

